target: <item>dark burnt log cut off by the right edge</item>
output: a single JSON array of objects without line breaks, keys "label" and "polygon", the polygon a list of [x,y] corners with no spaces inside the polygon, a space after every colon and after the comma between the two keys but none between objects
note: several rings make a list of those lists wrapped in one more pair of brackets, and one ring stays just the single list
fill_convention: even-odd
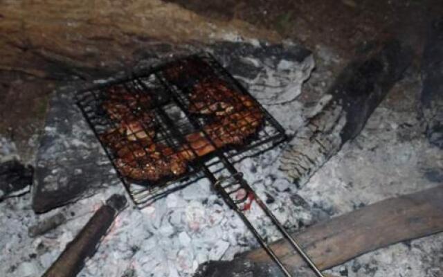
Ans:
[{"label": "dark burnt log cut off by the right edge", "polygon": [[443,149],[443,17],[428,30],[422,57],[422,119],[428,141]]}]

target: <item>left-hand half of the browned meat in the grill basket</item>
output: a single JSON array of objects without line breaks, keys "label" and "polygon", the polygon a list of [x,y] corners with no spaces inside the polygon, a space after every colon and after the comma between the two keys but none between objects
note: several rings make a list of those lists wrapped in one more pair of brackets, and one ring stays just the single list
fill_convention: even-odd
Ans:
[{"label": "left-hand half of the browned meat in the grill basket", "polygon": [[109,118],[119,122],[100,139],[116,154],[121,175],[134,180],[156,181],[186,171],[186,159],[165,145],[153,143],[154,113],[146,94],[130,93],[123,87],[111,87],[102,104]]}]

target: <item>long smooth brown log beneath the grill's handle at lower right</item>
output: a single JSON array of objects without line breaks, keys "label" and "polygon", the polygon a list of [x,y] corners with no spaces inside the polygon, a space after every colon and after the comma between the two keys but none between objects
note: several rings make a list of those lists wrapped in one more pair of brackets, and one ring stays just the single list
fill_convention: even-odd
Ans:
[{"label": "long smooth brown log beneath the grill's handle at lower right", "polygon": [[[294,233],[293,238],[320,270],[329,269],[390,244],[442,232],[442,199],[443,186],[386,199]],[[305,263],[286,240],[271,248],[294,274],[303,271]],[[263,249],[242,253],[233,261],[210,261],[197,272],[196,277],[281,276]]]}]

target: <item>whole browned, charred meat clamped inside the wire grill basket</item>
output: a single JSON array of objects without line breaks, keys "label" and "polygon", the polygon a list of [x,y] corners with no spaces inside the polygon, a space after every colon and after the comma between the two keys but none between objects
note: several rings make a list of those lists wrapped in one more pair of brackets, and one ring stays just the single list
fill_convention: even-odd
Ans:
[{"label": "whole browned, charred meat clamped inside the wire grill basket", "polygon": [[[190,58],[165,69],[163,74],[180,86],[193,80],[192,84],[187,83],[191,88],[188,109],[193,114],[208,116],[210,123],[202,132],[188,134],[186,143],[174,150],[154,142],[154,114],[147,95],[109,89],[109,98],[102,107],[119,125],[102,134],[100,139],[114,150],[121,175],[137,181],[179,176],[197,157],[226,145],[242,145],[262,124],[262,111],[253,99],[215,78],[206,62]],[[209,77],[199,79],[204,75]]]}]

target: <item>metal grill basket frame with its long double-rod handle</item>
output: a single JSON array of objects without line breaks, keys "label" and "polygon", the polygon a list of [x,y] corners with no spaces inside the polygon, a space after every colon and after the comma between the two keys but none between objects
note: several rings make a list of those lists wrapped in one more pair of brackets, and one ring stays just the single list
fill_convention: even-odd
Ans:
[{"label": "metal grill basket frame with its long double-rod handle", "polygon": [[[214,141],[212,141],[210,139],[210,136],[208,135],[206,130],[203,128],[200,121],[190,115],[190,111],[186,108],[186,105],[184,105],[184,103],[180,100],[181,96],[178,93],[179,93],[179,91],[181,91],[183,93],[183,89],[177,87],[177,85],[175,87],[170,86],[170,84],[168,83],[168,80],[161,76],[161,72],[163,72],[162,70],[165,69],[165,66],[169,66],[170,63],[163,64],[161,66],[157,66],[156,68],[148,71],[148,73],[147,73],[148,76],[154,75],[154,78],[157,78],[161,81],[161,84],[163,84],[164,88],[170,94],[169,95],[170,98],[172,97],[175,104],[185,114],[186,119],[189,121],[189,123],[192,126],[194,126],[196,130],[198,130],[199,132],[202,132],[204,134],[204,136],[206,137],[206,140],[208,140],[209,143],[215,148],[215,151],[213,151],[212,156],[217,157],[216,162],[211,162],[211,161],[208,161],[207,159],[206,160],[201,159],[203,157],[199,158],[197,155],[197,159],[196,159],[195,164],[197,165],[198,170],[196,172],[192,172],[192,173],[195,173],[195,175],[190,175],[192,173],[188,173],[188,174],[185,174],[184,176],[188,177],[188,175],[190,175],[190,176],[193,176],[197,179],[199,179],[200,177],[207,177],[211,181],[211,183],[213,184],[213,187],[215,188],[215,190],[217,190],[219,195],[221,195],[221,197],[224,198],[225,202],[230,206],[230,208],[232,208],[235,212],[237,212],[237,214],[242,219],[244,224],[246,224],[246,226],[248,226],[248,229],[251,230],[253,235],[255,235],[255,238],[257,238],[258,242],[260,242],[260,244],[262,245],[262,247],[264,248],[266,253],[268,253],[269,256],[278,265],[278,267],[280,267],[280,269],[282,270],[282,272],[284,273],[285,276],[292,277],[291,272],[289,272],[287,267],[285,267],[285,265],[282,263],[282,260],[280,260],[280,258],[278,258],[278,256],[271,249],[271,247],[269,247],[269,244],[264,240],[264,238],[262,238],[260,233],[258,233],[257,229],[255,229],[253,224],[246,217],[245,212],[247,211],[248,206],[253,201],[255,201],[257,203],[257,205],[260,206],[260,208],[262,209],[262,211],[264,211],[266,216],[269,217],[271,222],[273,222],[273,224],[277,227],[277,229],[280,231],[280,233],[282,233],[283,237],[289,241],[289,243],[300,254],[300,256],[303,258],[303,260],[305,260],[305,262],[307,262],[307,265],[309,265],[309,267],[311,267],[311,269],[314,271],[316,276],[324,277],[323,274],[319,271],[318,267],[316,267],[314,262],[312,262],[312,260],[309,258],[309,256],[307,256],[307,254],[300,248],[298,243],[291,237],[291,235],[286,231],[286,229],[284,229],[284,226],[282,226],[282,224],[278,221],[278,219],[275,217],[275,215],[273,215],[271,210],[269,210],[269,208],[267,208],[266,204],[264,204],[262,199],[260,199],[260,197],[258,197],[258,195],[255,193],[255,191],[251,188],[251,186],[248,185],[247,181],[243,178],[242,172],[238,172],[235,169],[235,167],[233,166],[233,163],[235,163],[235,160],[234,160],[235,157],[239,157],[242,154],[246,154],[248,151],[257,150],[261,146],[269,144],[265,149],[259,150],[253,155],[260,154],[266,150],[269,150],[269,148],[273,148],[276,145],[282,143],[283,141],[286,141],[287,136],[284,133],[284,129],[277,122],[277,120],[275,120],[271,116],[271,114],[269,114],[269,112],[266,111],[266,109],[264,109],[264,107],[262,107],[262,105],[260,105],[260,103],[257,100],[255,100],[255,98],[253,96],[251,96],[251,94],[248,93],[248,91],[246,91],[246,89],[244,89],[244,87],[241,84],[239,84],[239,82],[237,80],[235,80],[235,78],[233,78],[233,76],[230,75],[230,73],[228,73],[228,71],[226,71],[226,69],[224,69],[223,66],[221,66],[221,64],[219,64],[217,62],[217,60],[215,60],[215,58],[212,55],[210,55],[209,53],[201,53],[201,54],[197,54],[197,55],[191,55],[188,58],[193,58],[193,57],[205,58],[207,61],[210,61],[210,66],[215,70],[215,72],[221,73],[223,75],[223,79],[225,81],[228,81],[228,82],[230,82],[230,84],[233,84],[233,86],[230,85],[230,89],[235,89],[241,93],[244,93],[244,95],[248,96],[249,98],[251,98],[251,100],[253,100],[255,102],[255,105],[257,105],[257,107],[260,108],[260,111],[262,112],[262,114],[264,116],[264,124],[268,123],[271,127],[273,127],[273,129],[275,129],[276,133],[274,136],[265,137],[265,139],[259,140],[256,143],[250,143],[249,147],[239,148],[239,150],[237,149],[237,152],[235,152],[234,154],[226,155],[226,153],[228,153],[228,151],[225,148],[215,147]],[[142,75],[133,74],[133,76],[131,78],[128,78],[126,80],[126,82],[134,82],[134,80],[136,80],[136,82],[141,83],[140,78],[143,78],[141,76],[143,76],[143,74]],[[114,85],[115,84],[119,84],[119,82],[115,82]],[[100,87],[100,89],[102,89],[102,90],[104,90],[105,88],[106,87]],[[178,91],[177,91],[177,89],[178,89]],[[91,90],[89,90],[89,91],[91,91]],[[87,93],[87,92],[88,92],[88,90],[83,91],[83,93]],[[78,96],[79,94],[80,93],[76,93],[76,96]],[[95,97],[95,94],[93,92],[92,92],[92,95],[93,95],[93,97]],[[178,184],[177,186],[172,187],[171,183],[177,184],[177,179],[183,178],[183,177],[179,177],[179,178],[175,179],[174,181],[172,181],[172,180],[166,181],[164,184],[162,184],[163,187],[157,187],[157,188],[163,188],[163,191],[160,191],[160,192],[156,191],[156,193],[153,193],[154,189],[152,189],[152,188],[151,189],[150,188],[142,188],[141,190],[138,190],[138,191],[131,190],[129,183],[127,183],[127,178],[120,175],[120,172],[118,171],[118,168],[116,167],[116,163],[112,157],[113,155],[111,155],[109,148],[107,148],[105,146],[105,144],[102,142],[102,140],[100,139],[100,136],[97,132],[96,126],[93,125],[93,123],[91,122],[91,118],[89,118],[87,111],[84,109],[84,106],[82,106],[81,99],[78,97],[77,97],[77,104],[80,107],[80,109],[82,110],[84,117],[87,119],[87,122],[91,126],[91,129],[93,129],[94,134],[96,134],[96,136],[98,137],[107,156],[109,157],[112,164],[114,165],[114,168],[115,168],[116,172],[118,173],[118,176],[122,180],[123,184],[125,184],[125,188],[127,189],[130,197],[132,198],[134,203],[137,204],[137,206],[139,208],[141,208],[143,205],[149,205],[152,202],[156,201],[156,199],[159,199],[161,197],[165,197],[169,193],[172,193],[174,190],[179,190],[181,188],[184,188],[185,186],[192,184],[193,181],[196,181],[196,180],[191,180],[191,181],[185,182],[185,184]],[[96,105],[98,105],[98,103]],[[164,120],[163,123],[165,123],[166,125],[168,125],[168,127],[170,127],[170,132],[172,132],[174,134],[174,136],[177,136],[177,138],[174,138],[174,140],[178,139],[181,143],[183,143],[183,141],[185,140],[186,134],[181,134],[181,131],[177,131],[179,129],[175,128],[174,122],[169,118],[168,114],[166,114],[166,111],[161,109],[162,107],[164,107],[164,105],[157,107],[157,108],[159,109],[159,116],[161,116]],[[247,124],[251,124],[251,123],[248,122]],[[262,127],[262,130],[265,132],[265,134],[268,134],[264,130],[264,127]],[[258,132],[260,133],[260,131],[258,131]],[[260,136],[260,135],[257,134],[257,137],[258,136]],[[235,150],[233,150],[233,151],[235,151]],[[196,153],[194,152],[194,154],[196,154]],[[251,155],[245,155],[244,157],[251,157]],[[239,159],[238,161],[241,161],[241,159]],[[221,168],[219,168],[218,170],[217,170],[217,168],[215,170],[213,170],[212,169],[213,166],[217,166],[218,164],[221,165]],[[217,174],[219,172],[227,172],[228,176],[223,175],[223,173],[221,173],[221,176],[220,176],[220,174]],[[219,176],[216,177],[215,176],[216,174]],[[240,199],[238,199],[237,196],[241,190],[244,192],[244,196],[240,197]],[[141,195],[141,198],[138,198],[140,195]]]}]

